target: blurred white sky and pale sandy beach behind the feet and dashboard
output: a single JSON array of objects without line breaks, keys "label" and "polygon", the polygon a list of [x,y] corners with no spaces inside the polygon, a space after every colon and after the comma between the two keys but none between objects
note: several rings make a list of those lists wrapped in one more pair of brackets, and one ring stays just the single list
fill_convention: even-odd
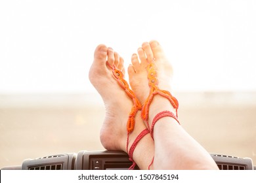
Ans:
[{"label": "blurred white sky and pale sandy beach behind the feet and dashboard", "polygon": [[256,163],[255,1],[0,1],[0,168],[104,150],[88,79],[111,46],[129,65],[156,39],[174,67],[182,126],[208,152]]}]

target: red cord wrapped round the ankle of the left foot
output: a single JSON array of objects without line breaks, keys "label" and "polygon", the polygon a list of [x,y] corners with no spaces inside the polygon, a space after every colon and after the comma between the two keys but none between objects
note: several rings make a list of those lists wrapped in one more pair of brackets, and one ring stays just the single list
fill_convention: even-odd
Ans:
[{"label": "red cord wrapped round the ankle of the left foot", "polygon": [[[133,152],[137,146],[137,144],[139,143],[139,141],[148,133],[150,133],[150,131],[146,128],[144,129],[142,132],[140,132],[140,134],[136,137],[135,141],[133,142],[133,144],[131,144],[131,148],[129,150],[129,160],[133,162],[133,165],[131,165],[131,167],[129,167],[129,170],[133,170],[136,166],[135,161],[133,160]],[[128,136],[129,137],[129,136]],[[129,143],[129,138],[127,138],[127,152],[128,152],[128,143]]]}]

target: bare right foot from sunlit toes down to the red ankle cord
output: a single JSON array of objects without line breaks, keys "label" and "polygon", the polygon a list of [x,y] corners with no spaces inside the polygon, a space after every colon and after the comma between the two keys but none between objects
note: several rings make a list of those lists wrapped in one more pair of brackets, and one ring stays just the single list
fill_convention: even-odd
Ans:
[{"label": "bare right foot from sunlit toes down to the red ankle cord", "polygon": [[[173,76],[173,67],[165,57],[163,49],[157,41],[144,42],[142,48],[138,49],[138,55],[133,54],[131,58],[132,65],[129,65],[129,82],[131,88],[136,93],[137,98],[142,104],[146,101],[146,98],[150,94],[150,82],[152,79],[148,77],[148,65],[154,64],[157,74],[155,75],[154,84],[158,86],[160,90],[166,90],[171,92],[171,79]],[[154,101],[157,99],[157,103]],[[163,110],[171,110],[175,114],[176,110],[173,105],[169,103],[164,97],[156,95],[152,101],[153,105],[150,105],[149,118],[143,114],[142,118],[145,120],[146,125],[150,128],[151,116],[155,116]],[[163,107],[165,103],[166,107]],[[145,107],[145,106],[144,106]]]}]

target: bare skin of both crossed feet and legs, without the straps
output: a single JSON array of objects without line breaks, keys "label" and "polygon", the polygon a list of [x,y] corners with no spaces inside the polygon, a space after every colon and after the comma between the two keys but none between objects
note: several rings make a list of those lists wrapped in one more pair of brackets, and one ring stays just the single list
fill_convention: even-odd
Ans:
[{"label": "bare skin of both crossed feet and legs, without the straps", "polygon": [[[157,41],[144,42],[137,52],[133,54],[131,65],[128,67],[129,83],[137,99],[143,104],[150,92],[146,70],[150,61],[153,58],[155,60],[158,86],[161,90],[171,91],[173,67]],[[120,71],[124,71],[123,59],[112,48],[107,48],[104,44],[96,48],[89,79],[102,96],[106,108],[100,141],[107,150],[127,152],[126,123],[133,103],[117,84],[106,61],[110,65],[116,65]],[[175,113],[167,99],[156,95],[149,110],[150,127],[154,116],[163,110]],[[145,122],[140,118],[140,111],[135,120],[135,129],[129,136],[129,148],[139,133],[146,128]],[[140,169],[148,169],[153,157],[154,163],[150,169],[218,169],[207,151],[171,117],[158,120],[154,126],[154,140],[149,134],[144,136],[133,153],[133,159]]]}]

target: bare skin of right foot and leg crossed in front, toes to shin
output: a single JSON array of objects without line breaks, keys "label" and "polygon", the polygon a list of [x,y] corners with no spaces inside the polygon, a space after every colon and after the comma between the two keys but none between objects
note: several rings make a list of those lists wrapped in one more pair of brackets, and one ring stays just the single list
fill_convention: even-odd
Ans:
[{"label": "bare skin of right foot and leg crossed in front, toes to shin", "polygon": [[[148,87],[148,72],[145,69],[150,61],[154,61],[158,75],[158,87],[171,91],[171,76],[173,69],[165,58],[160,44],[156,41],[144,42],[142,48],[132,56],[132,65],[128,68],[131,88],[144,103],[150,88]],[[171,103],[155,95],[149,108],[148,123],[152,125],[154,117],[163,110],[175,113]],[[164,117],[154,126],[155,158],[154,169],[218,169],[215,161],[206,150],[198,144],[174,118]]]}]

